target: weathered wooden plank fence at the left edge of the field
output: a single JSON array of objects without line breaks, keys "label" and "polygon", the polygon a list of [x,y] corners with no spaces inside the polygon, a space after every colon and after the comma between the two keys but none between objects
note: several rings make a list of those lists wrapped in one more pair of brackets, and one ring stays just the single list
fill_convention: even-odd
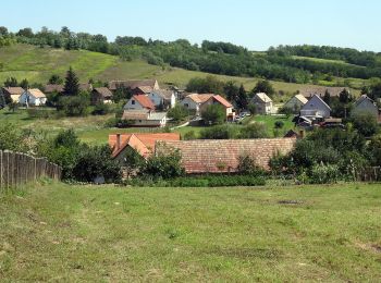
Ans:
[{"label": "weathered wooden plank fence at the left edge of the field", "polygon": [[61,179],[61,168],[49,162],[46,158],[0,150],[0,188],[17,187],[47,176]]}]

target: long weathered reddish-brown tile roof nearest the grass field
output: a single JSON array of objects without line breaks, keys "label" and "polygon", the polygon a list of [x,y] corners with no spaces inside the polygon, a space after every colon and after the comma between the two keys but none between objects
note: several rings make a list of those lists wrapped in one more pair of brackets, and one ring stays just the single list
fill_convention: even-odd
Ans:
[{"label": "long weathered reddish-brown tile roof nearest the grass field", "polygon": [[288,153],[296,138],[165,140],[156,144],[156,155],[179,150],[188,174],[234,173],[239,157],[249,156],[269,170],[270,159]]}]

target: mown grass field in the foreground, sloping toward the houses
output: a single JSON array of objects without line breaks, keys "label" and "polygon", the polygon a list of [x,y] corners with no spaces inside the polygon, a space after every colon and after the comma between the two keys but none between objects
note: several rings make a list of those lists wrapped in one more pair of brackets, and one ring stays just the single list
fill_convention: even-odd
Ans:
[{"label": "mown grass field in the foreground, sloping toward the houses", "polygon": [[380,185],[0,195],[2,282],[380,282]]}]

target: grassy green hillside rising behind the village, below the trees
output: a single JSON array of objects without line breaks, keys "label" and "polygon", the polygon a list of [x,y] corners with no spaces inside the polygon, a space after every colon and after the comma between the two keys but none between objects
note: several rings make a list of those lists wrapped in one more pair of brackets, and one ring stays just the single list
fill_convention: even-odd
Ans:
[{"label": "grassy green hillside rising behind the village, below the trees", "polygon": [[[63,50],[40,48],[29,45],[14,45],[0,48],[0,83],[14,76],[19,81],[27,78],[30,83],[45,84],[51,74],[64,76],[72,66],[82,82],[89,78],[108,82],[110,79],[151,78],[160,84],[175,84],[184,87],[195,76],[205,77],[208,73],[187,71],[167,66],[150,65],[145,61],[122,61],[119,57],[86,50]],[[216,75],[222,81],[236,81],[251,89],[259,78]],[[357,84],[361,82],[356,81]],[[300,84],[272,82],[276,90],[294,93]]]}]

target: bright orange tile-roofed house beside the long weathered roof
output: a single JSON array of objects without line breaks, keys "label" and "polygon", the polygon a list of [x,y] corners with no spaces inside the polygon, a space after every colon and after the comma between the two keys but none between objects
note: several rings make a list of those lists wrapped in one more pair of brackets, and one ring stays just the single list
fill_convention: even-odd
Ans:
[{"label": "bright orange tile-roofed house beside the long weathered roof", "polygon": [[112,149],[112,158],[122,159],[127,147],[135,149],[142,157],[148,158],[155,152],[158,140],[180,140],[179,133],[135,133],[111,134],[109,146]]}]

